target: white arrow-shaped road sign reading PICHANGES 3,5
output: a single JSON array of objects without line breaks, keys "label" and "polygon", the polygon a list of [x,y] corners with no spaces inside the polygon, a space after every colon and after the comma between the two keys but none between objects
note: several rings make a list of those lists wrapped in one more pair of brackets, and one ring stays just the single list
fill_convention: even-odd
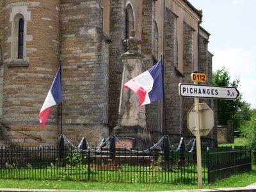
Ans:
[{"label": "white arrow-shaped road sign reading PICHANGES 3,5", "polygon": [[236,88],[230,86],[209,86],[202,84],[179,84],[181,97],[202,97],[211,99],[235,100],[239,96]]}]

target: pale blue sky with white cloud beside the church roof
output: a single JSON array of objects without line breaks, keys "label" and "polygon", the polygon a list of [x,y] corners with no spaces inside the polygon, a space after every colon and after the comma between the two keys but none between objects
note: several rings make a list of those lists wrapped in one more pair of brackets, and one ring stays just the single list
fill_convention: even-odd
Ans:
[{"label": "pale blue sky with white cloud beside the church roof", "polygon": [[242,101],[256,108],[256,0],[188,0],[203,11],[200,26],[208,33],[212,70],[225,67],[239,79]]}]

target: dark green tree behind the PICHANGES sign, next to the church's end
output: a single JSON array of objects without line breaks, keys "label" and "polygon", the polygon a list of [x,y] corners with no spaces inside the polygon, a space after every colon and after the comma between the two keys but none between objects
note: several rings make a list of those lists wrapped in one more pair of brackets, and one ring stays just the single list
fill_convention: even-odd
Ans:
[{"label": "dark green tree behind the PICHANGES sign, next to the church's end", "polygon": [[[230,76],[228,70],[223,67],[218,69],[212,74],[212,84],[216,86],[232,86],[237,88],[239,80],[230,82]],[[243,102],[241,102],[242,95],[236,100],[218,100],[217,120],[218,125],[227,125],[228,120],[236,120],[237,112],[242,108]],[[234,122],[235,127],[239,122]]]}]

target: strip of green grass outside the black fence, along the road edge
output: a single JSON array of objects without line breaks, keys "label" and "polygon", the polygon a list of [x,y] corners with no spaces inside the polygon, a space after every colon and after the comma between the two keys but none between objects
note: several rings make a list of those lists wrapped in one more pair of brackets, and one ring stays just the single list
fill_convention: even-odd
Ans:
[{"label": "strip of green grass outside the black fence, along the road edge", "polygon": [[[205,184],[204,189],[244,187],[256,182],[256,166],[251,172],[234,175],[214,184]],[[159,183],[117,183],[117,182],[83,182],[68,180],[15,180],[0,179],[0,188],[22,189],[72,189],[94,191],[170,191],[180,189],[197,189],[196,184],[159,184]]]}]

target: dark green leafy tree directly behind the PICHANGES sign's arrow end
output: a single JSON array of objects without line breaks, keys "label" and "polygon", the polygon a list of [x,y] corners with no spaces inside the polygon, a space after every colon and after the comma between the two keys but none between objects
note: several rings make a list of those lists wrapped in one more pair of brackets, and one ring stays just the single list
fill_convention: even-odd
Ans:
[{"label": "dark green leafy tree directly behind the PICHANGES sign's arrow end", "polygon": [[[212,84],[216,86],[232,86],[237,88],[239,79],[230,81],[228,70],[223,67],[212,74]],[[244,120],[250,117],[247,113],[250,109],[250,104],[242,102],[242,95],[240,94],[236,100],[218,100],[218,125],[227,125],[228,120],[234,121],[234,127],[244,123]],[[244,113],[246,111],[246,113]]]}]

